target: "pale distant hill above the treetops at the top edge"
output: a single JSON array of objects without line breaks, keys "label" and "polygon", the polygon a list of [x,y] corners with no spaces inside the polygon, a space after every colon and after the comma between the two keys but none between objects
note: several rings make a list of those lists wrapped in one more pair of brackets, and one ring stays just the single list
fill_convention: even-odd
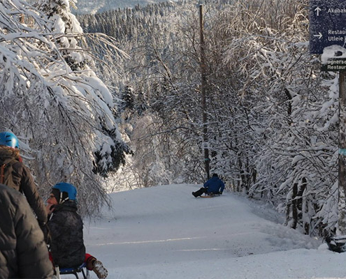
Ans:
[{"label": "pale distant hill above the treetops at the top edge", "polygon": [[145,6],[149,3],[166,2],[164,0],[78,0],[77,10],[73,13],[86,14],[97,13],[117,8],[134,8],[134,6]]}]

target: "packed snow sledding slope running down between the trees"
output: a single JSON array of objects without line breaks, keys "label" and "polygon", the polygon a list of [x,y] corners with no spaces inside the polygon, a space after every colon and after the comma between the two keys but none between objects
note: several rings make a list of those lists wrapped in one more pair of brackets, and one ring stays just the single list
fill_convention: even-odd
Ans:
[{"label": "packed snow sledding slope running down between the trees", "polygon": [[232,193],[196,199],[199,187],[110,194],[113,209],[85,224],[87,252],[110,279],[346,278],[346,253],[326,250]]}]

